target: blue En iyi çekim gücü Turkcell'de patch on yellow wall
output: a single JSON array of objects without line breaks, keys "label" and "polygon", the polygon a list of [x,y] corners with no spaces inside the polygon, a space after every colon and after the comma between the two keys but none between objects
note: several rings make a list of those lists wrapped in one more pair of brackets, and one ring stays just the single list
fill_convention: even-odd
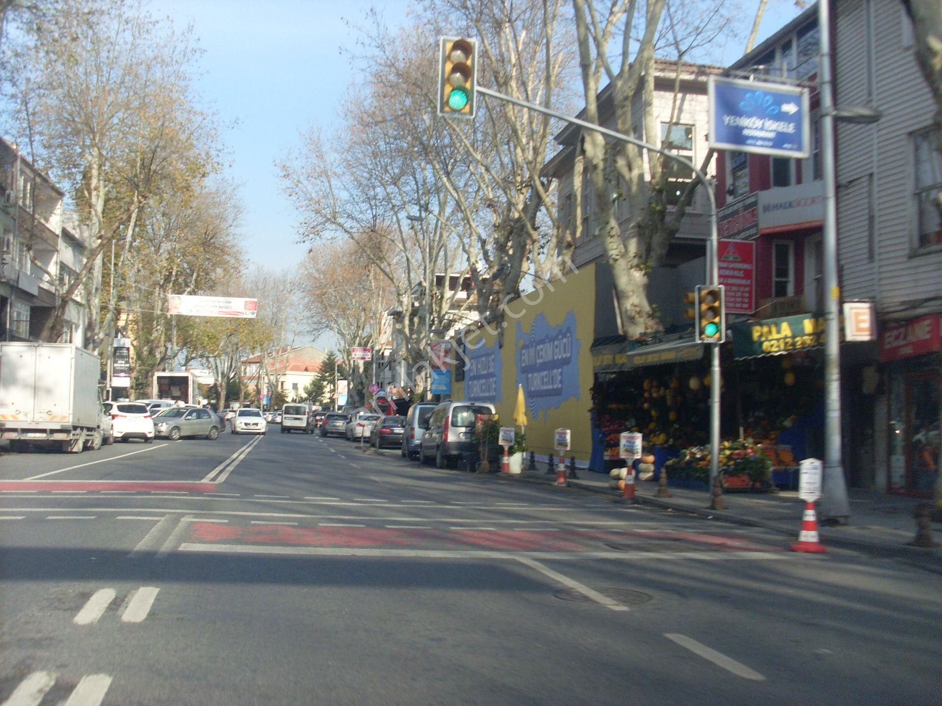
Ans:
[{"label": "blue En iyi \u00e7ekim g\u00fcc\u00fc Turkcell'de patch on yellow wall", "polygon": [[530,415],[535,419],[563,402],[579,398],[579,347],[576,313],[559,326],[550,326],[540,313],[526,333],[517,324],[517,383],[524,386]]}]

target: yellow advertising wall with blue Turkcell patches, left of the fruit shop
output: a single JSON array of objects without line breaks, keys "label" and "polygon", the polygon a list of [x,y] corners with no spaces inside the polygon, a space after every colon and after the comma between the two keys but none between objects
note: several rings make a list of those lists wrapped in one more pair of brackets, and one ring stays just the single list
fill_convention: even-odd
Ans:
[{"label": "yellow advertising wall with blue Turkcell patches, left of the fruit shop", "polygon": [[[527,395],[528,449],[544,461],[553,451],[554,431],[568,428],[572,430],[572,449],[566,456],[588,462],[592,453],[589,409],[594,313],[593,265],[509,302],[504,329],[498,332],[484,327],[468,338],[473,350],[467,352],[465,380],[452,379],[451,398],[484,401],[486,394],[495,391],[497,413],[501,422],[510,426],[517,384],[522,382],[525,391],[534,392]],[[480,352],[495,357],[479,364]],[[499,365],[495,364],[497,359]]]}]

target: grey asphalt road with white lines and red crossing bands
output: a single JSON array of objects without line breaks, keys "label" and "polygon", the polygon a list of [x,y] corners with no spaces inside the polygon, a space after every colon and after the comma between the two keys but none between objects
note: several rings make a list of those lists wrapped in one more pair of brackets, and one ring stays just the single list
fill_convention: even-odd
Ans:
[{"label": "grey asphalt road with white lines and red crossing bands", "polygon": [[942,578],[319,436],[0,456],[0,706],[938,704]]}]

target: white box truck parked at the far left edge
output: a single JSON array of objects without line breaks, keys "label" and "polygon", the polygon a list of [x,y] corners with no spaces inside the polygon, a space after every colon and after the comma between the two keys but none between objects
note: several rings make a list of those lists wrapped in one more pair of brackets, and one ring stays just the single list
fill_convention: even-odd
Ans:
[{"label": "white box truck parked at the far left edge", "polygon": [[98,356],[74,344],[0,343],[0,434],[71,454],[102,445]]}]

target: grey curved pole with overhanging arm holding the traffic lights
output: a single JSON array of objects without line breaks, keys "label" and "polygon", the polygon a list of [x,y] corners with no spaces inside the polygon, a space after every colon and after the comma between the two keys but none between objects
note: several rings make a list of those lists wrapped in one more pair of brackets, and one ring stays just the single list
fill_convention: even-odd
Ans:
[{"label": "grey curved pole with overhanging arm holding the traffic lights", "polygon": [[[713,189],[710,188],[709,181],[707,180],[707,175],[693,164],[689,159],[685,159],[678,154],[674,154],[670,150],[665,150],[662,147],[657,145],[652,145],[649,142],[644,142],[643,140],[637,139],[632,136],[627,136],[614,130],[609,130],[609,128],[602,127],[601,125],[594,125],[592,122],[586,120],[579,120],[578,118],[572,118],[568,115],[564,115],[555,110],[550,110],[545,108],[543,105],[535,105],[532,103],[527,103],[526,101],[521,101],[518,98],[513,98],[512,96],[505,95],[503,93],[498,93],[495,90],[490,88],[484,88],[483,86],[476,86],[475,90],[479,93],[483,93],[486,96],[491,96],[496,98],[498,101],[505,101],[506,103],[512,103],[514,105],[520,105],[521,107],[528,108],[537,113],[543,113],[544,115],[563,120],[565,122],[578,125],[579,127],[584,127],[587,130],[593,130],[596,133],[601,133],[614,139],[621,140],[622,142],[630,142],[633,145],[642,147],[645,150],[650,150],[651,152],[658,152],[658,154],[663,154],[669,159],[673,159],[676,162],[684,165],[684,167],[690,168],[693,170],[693,173],[697,175],[697,178],[703,182],[704,187],[707,190],[707,197],[709,198],[710,204],[710,216],[709,216],[709,243],[707,246],[707,284],[719,284],[720,283],[720,263],[719,263],[719,241],[717,236],[716,228],[716,194],[713,193]],[[710,464],[709,464],[709,488],[713,487],[713,480],[720,473],[720,389],[722,387],[722,371],[720,368],[720,345],[719,344],[709,344],[710,346],[710,393],[709,393],[709,446],[710,446]]]}]

